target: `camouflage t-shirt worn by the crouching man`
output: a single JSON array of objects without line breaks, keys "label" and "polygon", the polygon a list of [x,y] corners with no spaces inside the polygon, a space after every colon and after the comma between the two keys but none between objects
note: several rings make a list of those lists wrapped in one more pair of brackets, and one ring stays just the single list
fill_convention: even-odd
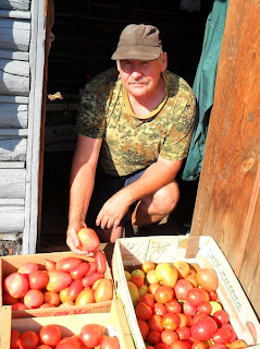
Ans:
[{"label": "camouflage t-shirt worn by the crouching man", "polygon": [[116,69],[94,77],[83,91],[78,133],[102,139],[99,165],[111,176],[127,176],[156,163],[158,156],[187,156],[195,119],[195,96],[179,76],[165,71],[166,98],[150,117],[138,118],[126,106]]}]

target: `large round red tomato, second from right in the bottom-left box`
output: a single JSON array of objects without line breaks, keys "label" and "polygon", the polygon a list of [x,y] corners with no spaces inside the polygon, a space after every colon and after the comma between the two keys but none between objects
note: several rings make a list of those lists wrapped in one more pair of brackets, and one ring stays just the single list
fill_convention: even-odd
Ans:
[{"label": "large round red tomato, second from right in the bottom-left box", "polygon": [[88,324],[81,329],[81,339],[87,348],[94,348],[100,345],[102,335],[107,328],[98,324]]}]

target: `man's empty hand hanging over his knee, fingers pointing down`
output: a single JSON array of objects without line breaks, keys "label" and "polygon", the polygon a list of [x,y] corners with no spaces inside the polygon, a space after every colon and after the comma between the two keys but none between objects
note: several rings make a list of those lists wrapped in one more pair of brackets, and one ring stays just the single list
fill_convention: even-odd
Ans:
[{"label": "man's empty hand hanging over his knee, fingers pointing down", "polygon": [[100,209],[96,225],[102,229],[117,228],[132,204],[127,196],[124,188],[110,197]]}]

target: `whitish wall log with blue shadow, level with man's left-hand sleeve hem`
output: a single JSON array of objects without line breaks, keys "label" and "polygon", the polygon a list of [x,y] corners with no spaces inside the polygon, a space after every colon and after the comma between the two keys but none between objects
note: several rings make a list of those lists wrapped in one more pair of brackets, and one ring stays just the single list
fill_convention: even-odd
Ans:
[{"label": "whitish wall log with blue shadow, level with man's left-hand sleeve hem", "polygon": [[26,139],[4,139],[0,136],[0,161],[25,161]]}]

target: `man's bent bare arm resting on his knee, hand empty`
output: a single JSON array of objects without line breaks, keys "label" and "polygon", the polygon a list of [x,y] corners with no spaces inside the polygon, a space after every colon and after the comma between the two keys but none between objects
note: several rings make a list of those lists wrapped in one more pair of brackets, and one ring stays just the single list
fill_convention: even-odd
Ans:
[{"label": "man's bent bare arm resting on his knee, hand empty", "polygon": [[119,226],[135,201],[173,182],[182,163],[183,160],[168,160],[159,156],[158,161],[150,165],[137,181],[123,188],[106,202],[97,217],[97,225],[100,225],[102,229]]}]

